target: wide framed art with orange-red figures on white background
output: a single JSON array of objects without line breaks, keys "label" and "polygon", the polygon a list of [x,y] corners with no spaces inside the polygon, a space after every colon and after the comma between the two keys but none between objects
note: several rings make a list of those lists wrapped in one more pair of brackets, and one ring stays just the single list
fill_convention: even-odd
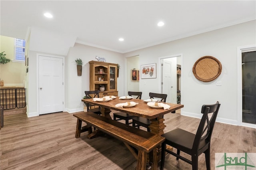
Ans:
[{"label": "wide framed art with orange-red figures on white background", "polygon": [[141,65],[141,79],[156,78],[156,63]]}]

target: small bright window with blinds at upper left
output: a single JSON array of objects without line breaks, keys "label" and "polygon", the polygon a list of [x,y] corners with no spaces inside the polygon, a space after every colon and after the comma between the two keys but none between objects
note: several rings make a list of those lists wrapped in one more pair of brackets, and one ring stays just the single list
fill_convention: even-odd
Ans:
[{"label": "small bright window with blinds at upper left", "polygon": [[25,45],[26,41],[22,39],[15,39],[14,42],[14,60],[25,61]]}]

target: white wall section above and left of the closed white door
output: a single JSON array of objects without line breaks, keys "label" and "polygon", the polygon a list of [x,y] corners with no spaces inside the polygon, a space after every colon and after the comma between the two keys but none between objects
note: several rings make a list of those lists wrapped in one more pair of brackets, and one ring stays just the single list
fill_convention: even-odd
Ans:
[{"label": "white wall section above and left of the closed white door", "polygon": [[[69,48],[74,45],[76,37],[42,28],[33,27],[27,40],[28,73],[26,73],[26,96],[28,117],[38,116],[38,54],[46,56],[67,55]],[[28,50],[28,51],[27,51]]]}]

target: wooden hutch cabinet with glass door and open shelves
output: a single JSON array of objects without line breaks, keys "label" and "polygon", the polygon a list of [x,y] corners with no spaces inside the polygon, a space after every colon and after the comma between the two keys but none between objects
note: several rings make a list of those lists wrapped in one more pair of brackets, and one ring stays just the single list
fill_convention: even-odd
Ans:
[{"label": "wooden hutch cabinet with glass door and open shelves", "polygon": [[117,64],[100,61],[89,61],[90,90],[100,90],[100,98],[118,96]]}]

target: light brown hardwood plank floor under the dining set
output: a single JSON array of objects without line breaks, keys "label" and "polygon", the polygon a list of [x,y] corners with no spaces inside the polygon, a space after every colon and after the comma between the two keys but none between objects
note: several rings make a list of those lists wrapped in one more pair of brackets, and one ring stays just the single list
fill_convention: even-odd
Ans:
[{"label": "light brown hardwood plank floor under the dining set", "polygon": [[[112,112],[113,113],[113,112]],[[112,115],[112,114],[110,114]],[[200,119],[180,114],[164,116],[164,132],[183,128],[195,133]],[[26,114],[4,116],[0,130],[1,170],[134,170],[136,159],[125,145],[108,135],[94,139],[87,132],[75,138],[76,118],[72,114],[52,113],[27,118]],[[218,152],[256,152],[256,129],[216,123],[211,141],[211,168]],[[187,157],[189,158],[189,156]],[[170,154],[166,170],[190,170],[192,166]],[[199,169],[205,170],[204,154]]]}]

